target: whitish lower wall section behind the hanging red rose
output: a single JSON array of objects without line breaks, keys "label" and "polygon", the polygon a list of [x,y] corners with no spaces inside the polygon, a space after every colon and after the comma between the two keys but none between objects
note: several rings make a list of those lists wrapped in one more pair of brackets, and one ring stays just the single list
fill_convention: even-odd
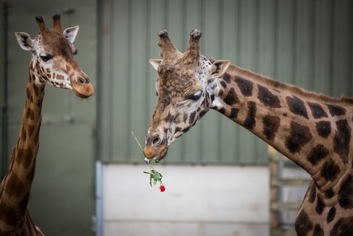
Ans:
[{"label": "whitish lower wall section behind the hanging red rose", "polygon": [[268,235],[268,167],[104,165],[104,236]]}]

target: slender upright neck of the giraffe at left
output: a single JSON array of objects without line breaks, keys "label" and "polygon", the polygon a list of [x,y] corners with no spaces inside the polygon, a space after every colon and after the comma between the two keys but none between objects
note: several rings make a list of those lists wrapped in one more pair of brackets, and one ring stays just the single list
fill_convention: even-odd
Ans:
[{"label": "slender upright neck of the giraffe at left", "polygon": [[4,229],[10,232],[21,230],[19,225],[32,225],[27,205],[40,144],[41,110],[45,87],[45,83],[36,83],[37,80],[38,78],[30,70],[20,134],[17,145],[13,148],[8,173],[0,186],[1,211],[7,212],[7,214],[1,214],[6,218],[0,219],[0,232]]}]

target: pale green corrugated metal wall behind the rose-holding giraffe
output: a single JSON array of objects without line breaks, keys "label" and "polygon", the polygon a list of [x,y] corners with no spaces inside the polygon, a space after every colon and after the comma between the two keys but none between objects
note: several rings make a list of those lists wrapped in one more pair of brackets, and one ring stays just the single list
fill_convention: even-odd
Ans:
[{"label": "pale green corrugated metal wall behind the rose-holding giraffe", "polygon": [[[307,90],[352,95],[353,2],[349,0],[100,1],[100,159],[143,161],[140,143],[155,108],[157,33],[184,52],[193,28],[201,53],[229,59]],[[267,162],[265,143],[211,111],[179,138],[169,163]]]}]

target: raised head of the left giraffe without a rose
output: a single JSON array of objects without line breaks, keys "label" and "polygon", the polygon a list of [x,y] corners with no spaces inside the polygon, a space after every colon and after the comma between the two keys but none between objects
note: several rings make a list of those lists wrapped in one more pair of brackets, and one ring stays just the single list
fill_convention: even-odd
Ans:
[{"label": "raised head of the left giraffe without a rose", "polygon": [[78,66],[73,41],[79,26],[62,30],[60,15],[53,16],[53,28],[48,30],[41,16],[36,16],[40,34],[34,40],[28,33],[16,32],[18,45],[32,53],[30,76],[34,83],[49,83],[57,88],[68,88],[80,98],[93,94],[90,78]]}]

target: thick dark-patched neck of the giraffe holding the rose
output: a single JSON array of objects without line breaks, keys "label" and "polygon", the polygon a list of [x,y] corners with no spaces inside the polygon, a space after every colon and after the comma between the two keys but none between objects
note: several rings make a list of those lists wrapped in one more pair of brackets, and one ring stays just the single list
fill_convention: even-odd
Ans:
[{"label": "thick dark-patched neck of the giraffe holding the rose", "polygon": [[352,105],[232,66],[213,81],[213,109],[304,168],[321,191],[350,170]]}]

